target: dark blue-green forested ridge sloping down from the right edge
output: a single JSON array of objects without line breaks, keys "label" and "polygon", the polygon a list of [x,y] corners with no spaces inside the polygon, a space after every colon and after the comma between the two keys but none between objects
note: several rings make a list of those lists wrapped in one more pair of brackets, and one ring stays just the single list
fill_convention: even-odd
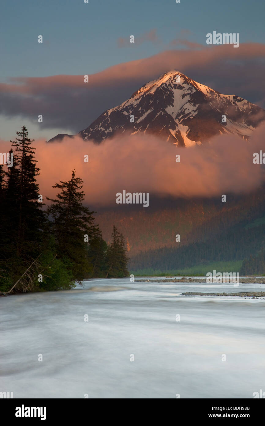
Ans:
[{"label": "dark blue-green forested ridge sloping down from the right edge", "polygon": [[[172,271],[247,259],[265,246],[265,203],[261,192],[231,202],[202,225],[194,225],[174,247],[131,256],[130,270]],[[249,272],[250,273],[250,272]]]}]

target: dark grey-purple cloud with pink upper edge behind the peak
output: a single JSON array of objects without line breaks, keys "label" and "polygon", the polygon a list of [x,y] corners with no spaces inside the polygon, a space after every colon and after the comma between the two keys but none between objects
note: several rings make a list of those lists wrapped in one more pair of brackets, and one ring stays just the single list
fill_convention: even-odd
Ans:
[{"label": "dark grey-purple cloud with pink upper edge behind the peak", "polygon": [[0,113],[34,122],[42,114],[44,129],[65,128],[75,134],[169,69],[177,69],[225,95],[239,95],[265,107],[265,45],[198,47],[120,63],[89,75],[89,83],[84,83],[83,75],[13,78],[0,84]]}]

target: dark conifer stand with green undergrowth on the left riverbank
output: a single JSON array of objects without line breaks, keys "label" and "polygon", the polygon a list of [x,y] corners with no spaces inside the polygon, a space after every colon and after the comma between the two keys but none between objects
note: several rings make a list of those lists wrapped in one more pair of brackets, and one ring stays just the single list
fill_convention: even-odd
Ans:
[{"label": "dark conifer stand with green undergrowth on the left riverbank", "polygon": [[40,169],[26,127],[11,141],[11,167],[0,165],[0,291],[70,289],[84,278],[128,275],[123,235],[113,226],[110,245],[83,205],[83,180],[72,171],[54,184],[45,204]]}]

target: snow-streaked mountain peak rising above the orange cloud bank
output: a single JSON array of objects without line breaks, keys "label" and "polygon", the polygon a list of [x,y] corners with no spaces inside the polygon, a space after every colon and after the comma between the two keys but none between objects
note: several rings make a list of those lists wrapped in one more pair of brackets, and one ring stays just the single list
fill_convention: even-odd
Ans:
[{"label": "snow-streaked mountain peak rising above the orange cloud bank", "polygon": [[103,112],[78,135],[100,143],[125,131],[131,135],[146,132],[183,147],[222,133],[248,138],[264,119],[265,110],[245,99],[222,95],[181,72],[169,71],[146,83],[123,104]]}]

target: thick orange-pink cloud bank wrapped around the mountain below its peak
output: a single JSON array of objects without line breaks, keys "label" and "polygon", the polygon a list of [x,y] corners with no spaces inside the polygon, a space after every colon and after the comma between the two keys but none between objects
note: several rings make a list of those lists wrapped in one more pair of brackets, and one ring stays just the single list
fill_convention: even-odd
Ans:
[{"label": "thick orange-pink cloud bank wrapped around the mountain below its peak", "polygon": [[[40,167],[40,193],[53,197],[51,188],[59,180],[71,178],[71,170],[84,180],[85,202],[109,207],[116,204],[116,193],[149,192],[158,197],[213,197],[245,193],[258,188],[263,168],[253,164],[253,153],[265,151],[265,126],[245,141],[233,135],[220,135],[205,146],[177,148],[150,135],[124,135],[100,145],[75,137],[47,144],[35,141]],[[1,152],[10,143],[0,141]],[[180,155],[180,163],[176,155]],[[84,162],[88,155],[88,163]],[[139,206],[139,208],[141,208]]]}]

